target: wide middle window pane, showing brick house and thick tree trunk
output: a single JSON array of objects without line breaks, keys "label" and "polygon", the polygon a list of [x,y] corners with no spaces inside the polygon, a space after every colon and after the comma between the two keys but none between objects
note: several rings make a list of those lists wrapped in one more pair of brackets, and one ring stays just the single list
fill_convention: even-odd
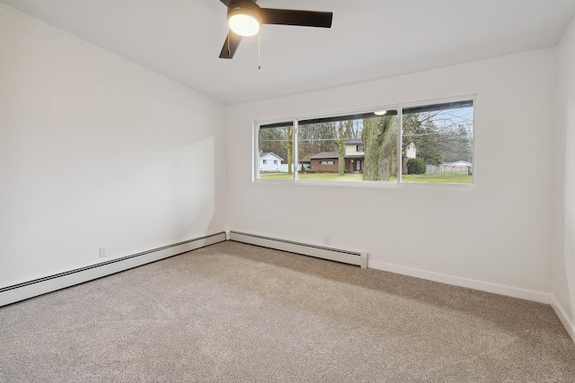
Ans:
[{"label": "wide middle window pane, showing brick house and thick tree trunk", "polygon": [[396,110],[300,121],[298,178],[395,181],[397,126]]}]

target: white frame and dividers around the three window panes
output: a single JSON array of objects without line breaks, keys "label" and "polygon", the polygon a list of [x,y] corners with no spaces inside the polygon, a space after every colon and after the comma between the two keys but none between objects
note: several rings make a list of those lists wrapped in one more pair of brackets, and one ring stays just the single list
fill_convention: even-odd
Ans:
[{"label": "white frame and dividers around the three window panes", "polygon": [[[402,151],[397,152],[397,166],[398,166],[398,176],[395,181],[338,181],[338,180],[314,180],[314,179],[299,179],[299,167],[297,166],[297,146],[298,146],[298,126],[300,121],[309,124],[309,121],[314,121],[317,119],[324,118],[347,118],[351,116],[361,116],[367,113],[373,113],[376,110],[397,110],[398,118],[398,134],[397,134],[397,148],[400,148],[403,140],[403,110],[404,109],[416,109],[418,107],[433,106],[438,104],[447,104],[451,102],[463,102],[471,101],[473,105],[473,143],[472,143],[472,183],[470,184],[436,184],[429,182],[403,182],[402,181]],[[380,105],[371,108],[361,108],[361,109],[349,109],[349,110],[338,110],[332,112],[316,113],[311,115],[299,115],[290,118],[274,118],[274,119],[262,119],[253,122],[252,126],[252,183],[261,184],[284,184],[284,185],[306,185],[306,186],[329,186],[329,187],[391,187],[391,188],[430,188],[430,189],[447,189],[447,190],[474,190],[477,187],[477,118],[476,118],[476,108],[477,108],[477,95],[468,94],[464,96],[448,97],[442,99],[434,100],[422,100],[413,102],[403,102],[397,104]],[[293,126],[293,167],[294,176],[290,179],[265,179],[260,178],[260,161],[259,161],[259,132],[260,126],[270,126],[286,124],[285,126]],[[288,164],[289,166],[289,164]]]}]

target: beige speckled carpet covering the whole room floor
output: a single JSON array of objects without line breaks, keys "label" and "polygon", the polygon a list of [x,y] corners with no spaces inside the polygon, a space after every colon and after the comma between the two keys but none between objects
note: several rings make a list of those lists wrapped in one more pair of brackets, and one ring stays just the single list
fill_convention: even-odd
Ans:
[{"label": "beige speckled carpet covering the whole room floor", "polygon": [[0,308],[2,382],[575,382],[548,305],[223,242]]}]

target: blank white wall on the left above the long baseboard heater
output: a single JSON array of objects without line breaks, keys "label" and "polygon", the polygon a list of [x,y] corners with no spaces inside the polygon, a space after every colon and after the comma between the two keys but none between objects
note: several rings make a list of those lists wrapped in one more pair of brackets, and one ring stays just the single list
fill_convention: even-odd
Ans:
[{"label": "blank white wall on the left above the long baseboard heater", "polygon": [[0,4],[0,112],[0,288],[224,228],[216,101]]}]

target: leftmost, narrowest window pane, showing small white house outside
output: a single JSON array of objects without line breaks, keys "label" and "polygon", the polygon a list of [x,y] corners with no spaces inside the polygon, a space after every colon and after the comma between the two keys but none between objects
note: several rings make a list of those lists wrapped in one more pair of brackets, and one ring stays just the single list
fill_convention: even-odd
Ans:
[{"label": "leftmost, narrowest window pane, showing small white house outside", "polygon": [[259,129],[259,178],[293,179],[292,122],[260,126]]}]

